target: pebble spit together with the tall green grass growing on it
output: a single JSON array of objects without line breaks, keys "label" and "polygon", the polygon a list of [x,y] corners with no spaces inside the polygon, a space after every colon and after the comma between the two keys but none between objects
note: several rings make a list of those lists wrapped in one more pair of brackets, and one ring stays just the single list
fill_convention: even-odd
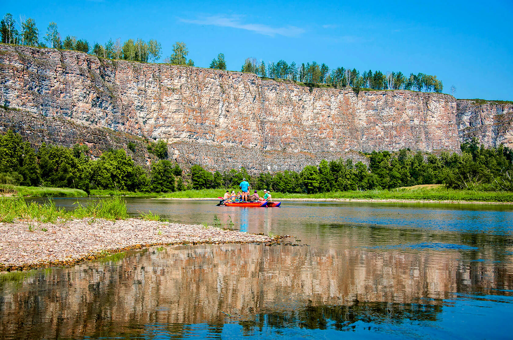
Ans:
[{"label": "pebble spit together with the tall green grass growing on it", "polygon": [[75,209],[52,201],[0,199],[0,271],[72,265],[129,249],[159,244],[266,243],[278,237],[253,235],[204,225],[162,221],[148,213],[129,218],[120,197]]}]

